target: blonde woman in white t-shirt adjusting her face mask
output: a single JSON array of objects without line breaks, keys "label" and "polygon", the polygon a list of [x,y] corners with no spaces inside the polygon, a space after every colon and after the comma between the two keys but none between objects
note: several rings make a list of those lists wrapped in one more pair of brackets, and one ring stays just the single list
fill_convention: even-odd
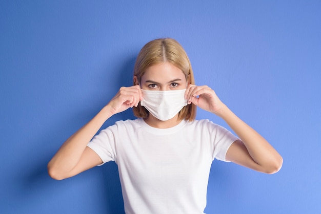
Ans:
[{"label": "blonde woman in white t-shirt adjusting her face mask", "polygon": [[[268,174],[282,166],[275,149],[212,89],[194,84],[190,61],[174,39],[143,47],[133,82],[62,145],[48,164],[52,178],[115,161],[126,213],[195,214],[204,213],[214,158]],[[196,106],[223,118],[238,137],[209,120],[195,120]],[[109,117],[128,108],[138,119],[118,121],[93,138]]]}]

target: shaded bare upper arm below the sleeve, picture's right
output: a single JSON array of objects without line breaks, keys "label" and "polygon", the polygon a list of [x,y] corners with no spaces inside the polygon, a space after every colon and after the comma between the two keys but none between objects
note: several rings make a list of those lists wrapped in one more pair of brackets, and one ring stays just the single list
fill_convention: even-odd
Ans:
[{"label": "shaded bare upper arm below the sleeve, picture's right", "polygon": [[252,159],[246,146],[241,140],[236,140],[232,143],[226,153],[226,160],[263,172],[262,167]]}]

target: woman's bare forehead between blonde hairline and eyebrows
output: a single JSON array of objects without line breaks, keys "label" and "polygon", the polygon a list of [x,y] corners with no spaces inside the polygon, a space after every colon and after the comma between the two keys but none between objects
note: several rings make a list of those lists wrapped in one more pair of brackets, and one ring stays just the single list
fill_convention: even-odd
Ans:
[{"label": "woman's bare forehead between blonde hairline and eyebrows", "polygon": [[182,70],[174,66],[170,62],[158,63],[148,67],[142,76],[142,81],[146,80],[171,80],[171,79],[186,79]]}]

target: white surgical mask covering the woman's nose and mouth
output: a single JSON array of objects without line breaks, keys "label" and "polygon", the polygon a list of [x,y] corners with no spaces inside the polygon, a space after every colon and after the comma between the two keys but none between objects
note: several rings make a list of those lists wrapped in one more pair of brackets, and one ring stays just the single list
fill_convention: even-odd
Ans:
[{"label": "white surgical mask covering the woman's nose and mouth", "polygon": [[150,114],[159,120],[169,120],[187,105],[184,90],[170,91],[149,91],[143,90],[143,100],[141,105],[144,106]]}]

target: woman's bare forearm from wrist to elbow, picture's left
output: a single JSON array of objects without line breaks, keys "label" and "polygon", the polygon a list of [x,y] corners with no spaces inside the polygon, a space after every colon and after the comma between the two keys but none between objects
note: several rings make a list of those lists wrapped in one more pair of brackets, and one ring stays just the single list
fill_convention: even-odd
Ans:
[{"label": "woman's bare forearm from wrist to elbow, picture's left", "polygon": [[111,117],[111,111],[105,106],[93,119],[69,137],[48,163],[52,172],[69,172],[78,163],[93,136],[104,122]]}]

